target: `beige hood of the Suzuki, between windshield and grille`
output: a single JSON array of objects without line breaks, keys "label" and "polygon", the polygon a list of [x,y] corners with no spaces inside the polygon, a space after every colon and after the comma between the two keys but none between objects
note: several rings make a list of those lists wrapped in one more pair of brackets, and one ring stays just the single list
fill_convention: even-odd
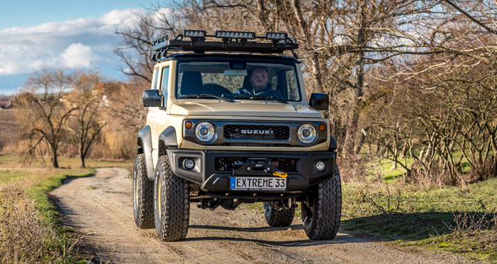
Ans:
[{"label": "beige hood of the Suzuki, between windshield and grille", "polygon": [[[212,102],[211,102],[212,101]],[[189,101],[171,104],[172,115],[246,116],[246,117],[306,117],[323,118],[309,106],[293,106],[266,101]]]}]

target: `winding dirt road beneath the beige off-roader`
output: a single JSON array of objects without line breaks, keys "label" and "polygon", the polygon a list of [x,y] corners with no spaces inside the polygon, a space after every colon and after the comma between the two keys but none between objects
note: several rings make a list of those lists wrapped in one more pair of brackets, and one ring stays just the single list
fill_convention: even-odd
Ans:
[{"label": "winding dirt road beneath the beige off-roader", "polygon": [[155,229],[138,229],[133,222],[131,182],[127,170],[105,168],[51,192],[62,224],[85,235],[82,249],[94,263],[473,263],[450,254],[399,251],[346,233],[311,241],[300,219],[291,229],[270,228],[262,212],[209,211],[196,204],[186,240],[160,242]]}]

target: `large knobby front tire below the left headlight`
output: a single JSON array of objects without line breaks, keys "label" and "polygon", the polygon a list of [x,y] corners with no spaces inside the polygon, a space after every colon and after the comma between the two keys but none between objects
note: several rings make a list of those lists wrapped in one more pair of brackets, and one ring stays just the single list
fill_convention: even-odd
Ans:
[{"label": "large knobby front tire below the left headlight", "polygon": [[188,183],[172,173],[168,156],[158,158],[154,181],[155,230],[161,241],[184,240],[188,233]]}]

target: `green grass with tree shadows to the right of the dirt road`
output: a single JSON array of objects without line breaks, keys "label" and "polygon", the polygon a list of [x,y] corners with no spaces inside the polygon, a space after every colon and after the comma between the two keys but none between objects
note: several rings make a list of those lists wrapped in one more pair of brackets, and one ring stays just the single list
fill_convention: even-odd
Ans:
[{"label": "green grass with tree shadows to the right of the dirt road", "polygon": [[396,245],[442,249],[497,263],[495,190],[495,178],[466,187],[344,183],[341,226]]}]

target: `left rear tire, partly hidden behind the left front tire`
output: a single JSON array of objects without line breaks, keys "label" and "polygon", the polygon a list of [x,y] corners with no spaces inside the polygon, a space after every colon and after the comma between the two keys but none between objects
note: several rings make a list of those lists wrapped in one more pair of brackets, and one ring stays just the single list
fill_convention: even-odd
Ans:
[{"label": "left rear tire, partly hidden behind the left front tire", "polygon": [[154,227],[154,182],[147,177],[145,154],[136,156],[133,168],[133,215],[138,228]]}]

